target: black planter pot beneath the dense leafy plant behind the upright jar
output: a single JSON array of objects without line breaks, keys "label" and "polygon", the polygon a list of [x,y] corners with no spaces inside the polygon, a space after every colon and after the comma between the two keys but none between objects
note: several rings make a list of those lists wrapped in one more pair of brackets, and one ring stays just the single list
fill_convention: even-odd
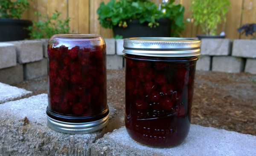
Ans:
[{"label": "black planter pot beneath the dense leafy plant behind the upright jar", "polygon": [[170,37],[171,36],[171,20],[161,18],[156,22],[159,26],[150,28],[148,22],[140,24],[140,21],[134,19],[127,20],[127,28],[113,26],[114,35],[122,35],[123,38],[143,38],[143,37]]}]

